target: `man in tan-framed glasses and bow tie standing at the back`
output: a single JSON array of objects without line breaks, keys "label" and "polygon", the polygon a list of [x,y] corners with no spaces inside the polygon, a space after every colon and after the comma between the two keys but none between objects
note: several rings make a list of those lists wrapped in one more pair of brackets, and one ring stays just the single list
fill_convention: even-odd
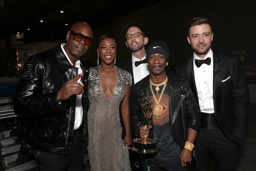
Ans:
[{"label": "man in tan-framed glasses and bow tie standing at the back", "polygon": [[[129,58],[126,58],[123,61],[117,62],[116,66],[126,70],[132,75],[132,87],[133,87],[135,83],[137,83],[138,81],[140,81],[142,78],[146,77],[150,73],[148,70],[148,66],[146,64],[146,52],[145,52],[145,45],[148,42],[148,38],[146,37],[146,34],[143,28],[141,28],[138,25],[130,25],[126,30],[125,38],[126,38],[125,44],[127,48],[131,50],[132,56]],[[130,101],[130,104],[131,104],[131,101]],[[121,116],[122,115],[120,113],[120,117]],[[121,123],[121,125],[123,124]],[[124,137],[125,130],[124,130],[124,127],[122,128],[123,128],[122,136]],[[132,136],[132,139],[135,139],[132,125],[131,125],[131,136]],[[140,161],[139,161],[138,154],[133,152],[131,149],[129,149],[129,153],[130,153],[130,162],[131,162],[132,170],[133,171],[142,170],[142,167],[139,166]]]}]

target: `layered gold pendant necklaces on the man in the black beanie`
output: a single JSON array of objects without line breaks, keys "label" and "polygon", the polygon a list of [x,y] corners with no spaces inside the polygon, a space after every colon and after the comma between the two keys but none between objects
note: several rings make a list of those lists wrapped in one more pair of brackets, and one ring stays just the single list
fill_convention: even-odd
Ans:
[{"label": "layered gold pendant necklaces on the man in the black beanie", "polygon": [[[160,97],[159,97],[158,100],[156,100],[156,96],[155,96],[155,94],[154,94],[154,92],[153,92],[152,85],[154,85],[154,86],[156,86],[156,85],[160,86],[160,84],[152,83],[151,79],[149,80],[151,92],[152,92],[153,97],[154,97],[155,102],[156,102],[156,106],[154,107],[153,112],[156,114],[157,118],[158,118],[158,115],[159,115],[160,113],[162,113],[162,112],[163,112],[163,109],[164,109],[162,105],[159,105],[159,102],[160,102],[160,100],[161,100],[161,98],[162,98],[162,96],[163,96],[163,93],[164,93],[164,89],[165,89],[165,87],[166,87],[167,80],[168,80],[168,79],[167,79],[167,77],[166,77],[165,81],[163,82],[164,84],[163,84],[163,83],[160,83],[161,85],[164,85],[164,88],[163,88],[162,93],[161,93],[161,95],[160,95]],[[158,90],[159,90],[159,87],[158,87]],[[156,91],[157,91],[157,90],[156,90]]]}]

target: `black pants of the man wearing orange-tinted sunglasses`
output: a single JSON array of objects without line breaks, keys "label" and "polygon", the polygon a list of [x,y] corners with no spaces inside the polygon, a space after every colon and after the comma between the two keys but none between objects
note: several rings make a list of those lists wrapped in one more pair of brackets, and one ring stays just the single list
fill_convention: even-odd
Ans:
[{"label": "black pants of the man wearing orange-tinted sunglasses", "polygon": [[70,155],[34,150],[39,171],[83,170],[83,141],[80,130],[74,130]]}]

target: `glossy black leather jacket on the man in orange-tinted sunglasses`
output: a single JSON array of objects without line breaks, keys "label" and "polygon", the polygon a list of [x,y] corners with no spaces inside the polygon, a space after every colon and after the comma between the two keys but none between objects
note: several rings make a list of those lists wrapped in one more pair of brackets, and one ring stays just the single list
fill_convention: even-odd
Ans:
[{"label": "glossy black leather jacket on the man in orange-tinted sunglasses", "polygon": [[[13,108],[17,116],[29,116],[26,141],[30,146],[45,152],[69,154],[76,95],[60,104],[57,95],[67,81],[78,75],[78,68],[70,65],[60,46],[28,58],[17,85]],[[80,66],[84,73],[81,80],[85,118],[89,69]],[[83,123],[87,121],[83,119]],[[83,132],[88,131],[83,129]]]}]

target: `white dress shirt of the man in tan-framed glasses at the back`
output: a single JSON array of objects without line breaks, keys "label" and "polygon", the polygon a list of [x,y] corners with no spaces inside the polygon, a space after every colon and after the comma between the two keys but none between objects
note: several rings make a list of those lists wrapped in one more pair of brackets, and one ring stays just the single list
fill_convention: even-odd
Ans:
[{"label": "white dress shirt of the man in tan-framed glasses at the back", "polygon": [[148,69],[147,64],[140,64],[139,66],[135,66],[135,61],[141,61],[146,59],[146,53],[145,56],[142,59],[135,58],[132,55],[132,70],[133,70],[133,79],[134,79],[134,84],[137,82],[141,81],[142,78],[146,77],[150,72]]}]

